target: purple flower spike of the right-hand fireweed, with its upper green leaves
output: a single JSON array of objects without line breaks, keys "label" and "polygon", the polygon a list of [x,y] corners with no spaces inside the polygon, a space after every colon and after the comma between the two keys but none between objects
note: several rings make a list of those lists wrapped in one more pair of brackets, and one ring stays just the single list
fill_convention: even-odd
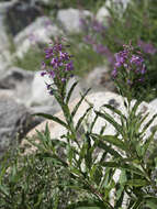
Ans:
[{"label": "purple flower spike of the right-hand fireweed, with its upper green leaves", "polygon": [[[123,45],[123,51],[115,54],[114,69],[111,75],[117,89],[131,101],[135,97],[136,91],[141,91],[141,87],[146,81],[147,76],[146,64],[142,52],[134,48],[132,44]],[[142,99],[138,97],[138,100]]]}]

